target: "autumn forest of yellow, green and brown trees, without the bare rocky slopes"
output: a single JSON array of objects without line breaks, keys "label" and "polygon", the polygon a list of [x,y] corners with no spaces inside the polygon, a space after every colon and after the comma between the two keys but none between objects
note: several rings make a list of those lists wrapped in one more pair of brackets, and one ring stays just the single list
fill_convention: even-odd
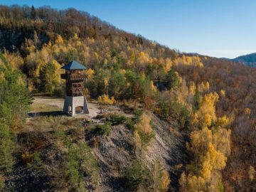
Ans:
[{"label": "autumn forest of yellow, green and brown trees, without the bare rocky slopes", "polygon": [[[14,157],[21,159],[15,146],[21,144],[16,141],[16,124],[25,120],[31,102],[29,91],[63,97],[65,85],[60,80],[60,67],[77,60],[90,68],[85,82],[88,98],[110,105],[118,102],[134,109],[135,119],[112,117],[132,130],[134,156],[146,150],[155,137],[147,112],[175,126],[178,132],[188,133],[183,152],[188,153],[189,161],[183,165],[179,181],[171,182],[174,189],[178,186],[179,191],[256,190],[255,68],[228,60],[181,54],[75,9],[0,6],[0,48],[3,188],[4,181],[8,183]],[[157,89],[159,83],[164,84],[165,91]],[[139,106],[143,113],[138,112]],[[112,126],[113,122],[115,120],[110,122]],[[62,127],[68,124],[62,123]],[[103,129],[100,135],[109,137],[108,126],[94,129]],[[70,164],[63,162],[61,167],[68,167],[74,171],[68,174],[78,176],[78,171],[71,169],[74,156],[80,158],[80,149],[87,153],[90,149],[71,137],[67,142],[63,132],[55,132],[53,137],[56,141],[59,139],[58,144],[64,148],[59,150],[60,154],[67,155],[70,161]],[[94,157],[82,156],[81,159],[95,166]],[[169,186],[169,180],[175,181],[169,176],[171,171],[167,170],[169,174],[166,174],[159,171],[163,170],[159,167],[154,164],[153,168],[145,168],[139,158],[134,160],[121,174],[124,186],[144,191],[173,188]],[[154,173],[156,169],[160,176],[152,174],[151,178],[145,178],[146,171]],[[94,186],[95,170],[85,167],[83,171],[90,175],[88,179]],[[156,177],[161,181],[156,182]],[[73,182],[69,190],[83,188],[72,176],[67,178],[70,178],[67,182]],[[82,181],[82,176],[77,178]],[[65,186],[65,179],[61,181]],[[146,186],[150,181],[156,184]],[[61,191],[61,186],[58,187]]]}]

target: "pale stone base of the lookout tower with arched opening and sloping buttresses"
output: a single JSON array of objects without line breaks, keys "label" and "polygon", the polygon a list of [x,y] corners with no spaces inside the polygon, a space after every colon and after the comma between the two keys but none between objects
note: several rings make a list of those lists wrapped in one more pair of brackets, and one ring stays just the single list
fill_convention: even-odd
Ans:
[{"label": "pale stone base of the lookout tower with arched opening and sloping buttresses", "polygon": [[75,107],[82,107],[82,113],[89,114],[89,108],[85,96],[65,97],[63,112],[65,112],[66,114],[70,114],[71,116],[74,116]]}]

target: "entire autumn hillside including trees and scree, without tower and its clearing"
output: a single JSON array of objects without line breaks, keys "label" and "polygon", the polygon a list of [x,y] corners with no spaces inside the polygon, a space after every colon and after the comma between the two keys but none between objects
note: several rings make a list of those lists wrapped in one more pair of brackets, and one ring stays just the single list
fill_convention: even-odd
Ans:
[{"label": "entire autumn hillside including trees and scree, without tower and its clearing", "polygon": [[[0,6],[0,48],[4,191],[255,191],[255,68],[75,9]],[[85,130],[72,117],[26,118],[56,110],[31,97],[63,97],[70,60],[90,68],[87,99],[118,112]]]}]

